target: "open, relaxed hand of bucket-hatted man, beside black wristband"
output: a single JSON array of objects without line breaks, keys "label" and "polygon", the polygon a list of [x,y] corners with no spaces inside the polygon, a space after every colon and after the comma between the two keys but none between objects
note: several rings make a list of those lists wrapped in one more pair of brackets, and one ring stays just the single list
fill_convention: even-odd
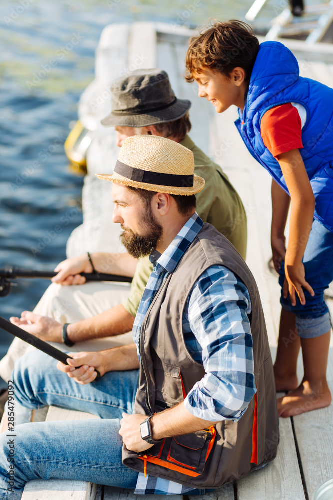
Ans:
[{"label": "open, relaxed hand of bucket-hatted man, beside black wristband", "polygon": [[46,342],[62,343],[62,324],[51,317],[23,311],[20,318],[11,317],[10,322]]}]

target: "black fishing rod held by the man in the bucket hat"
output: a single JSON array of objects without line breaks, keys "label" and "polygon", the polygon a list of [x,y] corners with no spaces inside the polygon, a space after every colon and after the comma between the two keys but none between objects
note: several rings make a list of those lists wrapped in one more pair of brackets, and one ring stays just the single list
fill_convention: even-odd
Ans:
[{"label": "black fishing rod held by the man in the bucket hat", "polygon": [[[31,269],[19,269],[18,267],[8,267],[0,269],[0,297],[5,297],[10,293],[11,282],[9,279],[16,278],[42,278],[51,279],[58,273],[54,271],[34,271]],[[117,274],[104,274],[101,272],[85,273],[81,272],[81,276],[87,281],[116,281],[118,283],[131,283],[132,279],[128,276],[118,276]]]}]

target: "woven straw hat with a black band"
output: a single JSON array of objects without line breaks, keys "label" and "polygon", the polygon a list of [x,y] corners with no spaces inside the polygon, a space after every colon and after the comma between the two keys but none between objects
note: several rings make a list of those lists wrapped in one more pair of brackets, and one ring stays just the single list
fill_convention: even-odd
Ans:
[{"label": "woven straw hat with a black band", "polygon": [[194,157],[187,147],[157,135],[133,135],[124,140],[113,174],[96,173],[96,177],[147,191],[189,196],[205,185],[193,172]]}]

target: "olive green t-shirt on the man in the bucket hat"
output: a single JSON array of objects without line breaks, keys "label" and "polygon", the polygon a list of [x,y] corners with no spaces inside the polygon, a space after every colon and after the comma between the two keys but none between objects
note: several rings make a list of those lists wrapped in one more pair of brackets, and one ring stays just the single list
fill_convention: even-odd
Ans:
[{"label": "olive green t-shirt on the man in the bucket hat", "polygon": [[[205,187],[198,192],[196,211],[204,222],[212,224],[235,246],[242,257],[246,254],[246,214],[242,201],[222,169],[197,147],[189,136],[180,142],[194,155],[194,173],[205,179]],[[131,294],[123,306],[133,316],[153,270],[149,257],[140,258],[131,286]]]}]

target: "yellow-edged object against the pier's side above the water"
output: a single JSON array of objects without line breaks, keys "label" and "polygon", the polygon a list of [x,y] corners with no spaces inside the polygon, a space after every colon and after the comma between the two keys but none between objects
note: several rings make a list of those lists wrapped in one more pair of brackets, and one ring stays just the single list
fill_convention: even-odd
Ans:
[{"label": "yellow-edged object against the pier's side above the water", "polygon": [[77,120],[64,143],[67,158],[79,170],[87,169],[87,149],[93,135],[94,132],[84,128],[80,120]]}]

